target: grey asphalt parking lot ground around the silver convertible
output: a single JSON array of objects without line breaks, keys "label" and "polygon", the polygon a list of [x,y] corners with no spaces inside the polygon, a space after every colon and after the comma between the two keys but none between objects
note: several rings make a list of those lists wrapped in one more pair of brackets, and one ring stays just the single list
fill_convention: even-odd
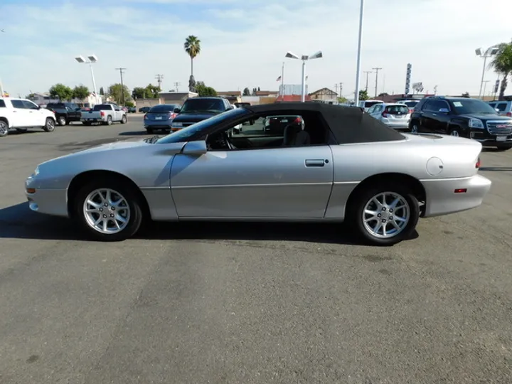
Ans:
[{"label": "grey asphalt parking lot ground around the silver convertible", "polygon": [[146,136],[129,115],[0,139],[0,383],[510,383],[512,150],[482,155],[481,207],[394,247],[319,224],[86,242],[28,210],[37,164]]}]

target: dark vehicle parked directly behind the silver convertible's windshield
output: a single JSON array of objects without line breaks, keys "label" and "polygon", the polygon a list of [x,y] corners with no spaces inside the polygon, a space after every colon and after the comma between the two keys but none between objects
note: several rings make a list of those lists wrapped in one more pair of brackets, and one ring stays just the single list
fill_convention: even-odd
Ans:
[{"label": "dark vehicle parked directly behind the silver convertible's windshield", "polygon": [[233,108],[223,97],[192,97],[183,102],[181,109],[176,109],[178,116],[171,123],[171,129],[178,131]]}]

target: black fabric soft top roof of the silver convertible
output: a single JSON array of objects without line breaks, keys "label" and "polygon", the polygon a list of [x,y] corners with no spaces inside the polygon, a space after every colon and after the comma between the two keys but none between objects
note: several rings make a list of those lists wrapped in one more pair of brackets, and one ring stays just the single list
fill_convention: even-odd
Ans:
[{"label": "black fabric soft top roof of the silver convertible", "polygon": [[404,137],[394,129],[374,119],[359,107],[344,107],[319,102],[283,102],[242,107],[257,114],[301,114],[320,112],[340,144],[390,142]]}]

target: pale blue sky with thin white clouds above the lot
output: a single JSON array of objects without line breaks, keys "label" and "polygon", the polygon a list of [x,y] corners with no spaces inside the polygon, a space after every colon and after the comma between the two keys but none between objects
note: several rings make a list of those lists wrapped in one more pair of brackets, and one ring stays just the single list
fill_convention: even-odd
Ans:
[{"label": "pale blue sky with thin white clouds above the lot", "polygon": [[[478,95],[483,59],[476,48],[512,38],[511,0],[365,0],[363,71],[382,68],[378,93],[405,91],[407,63],[412,82],[424,92]],[[306,64],[309,92],[335,89],[353,97],[356,87],[360,0],[0,0],[0,79],[11,96],[48,92],[51,85],[86,85],[90,69],[77,55],[97,55],[97,90],[119,82],[156,84],[185,91],[190,58],[187,36],[198,36],[201,54],[194,75],[218,91],[300,84],[302,63],[287,51],[324,57]],[[496,74],[487,70],[486,94]],[[369,95],[375,94],[375,73]]]}]

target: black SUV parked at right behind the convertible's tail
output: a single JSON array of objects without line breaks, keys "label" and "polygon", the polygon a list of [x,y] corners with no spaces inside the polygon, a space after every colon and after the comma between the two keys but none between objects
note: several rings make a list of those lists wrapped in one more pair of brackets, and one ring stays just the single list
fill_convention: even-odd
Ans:
[{"label": "black SUV parked at right behind the convertible's tail", "polygon": [[465,97],[425,97],[411,114],[412,133],[451,134],[483,146],[512,148],[512,118],[500,116],[486,102]]}]

